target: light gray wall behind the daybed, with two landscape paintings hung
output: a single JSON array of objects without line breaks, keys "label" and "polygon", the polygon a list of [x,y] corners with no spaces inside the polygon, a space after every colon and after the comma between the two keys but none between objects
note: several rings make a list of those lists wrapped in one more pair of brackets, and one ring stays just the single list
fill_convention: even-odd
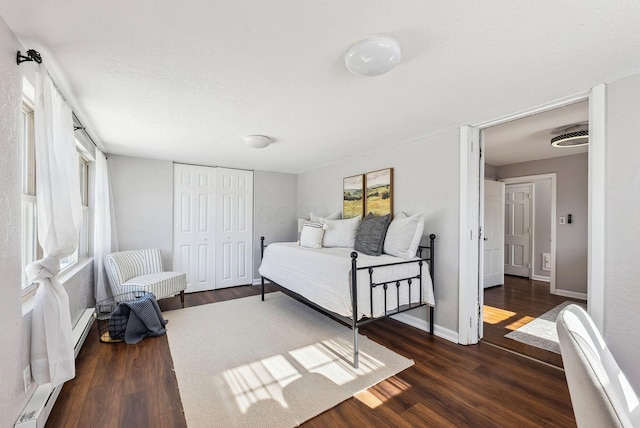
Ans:
[{"label": "light gray wall behind the daybed, with two landscape paintings hung", "polygon": [[[394,210],[425,215],[423,243],[437,235],[436,324],[458,331],[458,234],[460,219],[459,130],[393,148],[363,154],[336,165],[320,168],[298,178],[298,211],[326,214],[342,210],[342,179],[355,174],[392,167]],[[426,310],[411,316],[425,320]]]}]

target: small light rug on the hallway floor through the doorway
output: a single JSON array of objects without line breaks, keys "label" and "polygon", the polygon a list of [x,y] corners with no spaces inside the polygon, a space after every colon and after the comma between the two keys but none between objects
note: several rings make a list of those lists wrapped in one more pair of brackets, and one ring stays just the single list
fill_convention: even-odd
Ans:
[{"label": "small light rug on the hallway floor through the doorway", "polygon": [[[533,321],[505,334],[504,337],[559,354],[560,345],[558,344],[556,319],[558,319],[558,314],[562,308],[572,303],[576,302],[562,302]],[[580,305],[580,303],[577,304]]]}]

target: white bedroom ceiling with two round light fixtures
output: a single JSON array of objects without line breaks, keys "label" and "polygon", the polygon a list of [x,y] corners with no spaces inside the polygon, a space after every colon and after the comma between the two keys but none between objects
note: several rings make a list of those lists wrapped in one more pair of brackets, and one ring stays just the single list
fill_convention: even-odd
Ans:
[{"label": "white bedroom ceiling with two round light fixtures", "polygon": [[[0,0],[0,16],[104,151],[291,173],[640,72],[637,0]],[[400,64],[349,73],[375,34]]]}]

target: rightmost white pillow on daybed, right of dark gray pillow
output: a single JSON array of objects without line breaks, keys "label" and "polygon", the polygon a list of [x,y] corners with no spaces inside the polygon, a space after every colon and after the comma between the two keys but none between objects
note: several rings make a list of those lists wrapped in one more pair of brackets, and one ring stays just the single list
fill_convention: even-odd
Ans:
[{"label": "rightmost white pillow on daybed, right of dark gray pillow", "polygon": [[403,259],[416,256],[422,232],[424,231],[424,215],[415,214],[407,217],[400,213],[395,216],[384,240],[384,252]]}]

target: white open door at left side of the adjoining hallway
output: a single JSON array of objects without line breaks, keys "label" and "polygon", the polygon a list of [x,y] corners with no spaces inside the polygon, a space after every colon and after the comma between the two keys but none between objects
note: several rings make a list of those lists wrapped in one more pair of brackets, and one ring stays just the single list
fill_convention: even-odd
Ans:
[{"label": "white open door at left side of the adjoining hallway", "polygon": [[504,188],[484,180],[484,288],[504,284]]}]

